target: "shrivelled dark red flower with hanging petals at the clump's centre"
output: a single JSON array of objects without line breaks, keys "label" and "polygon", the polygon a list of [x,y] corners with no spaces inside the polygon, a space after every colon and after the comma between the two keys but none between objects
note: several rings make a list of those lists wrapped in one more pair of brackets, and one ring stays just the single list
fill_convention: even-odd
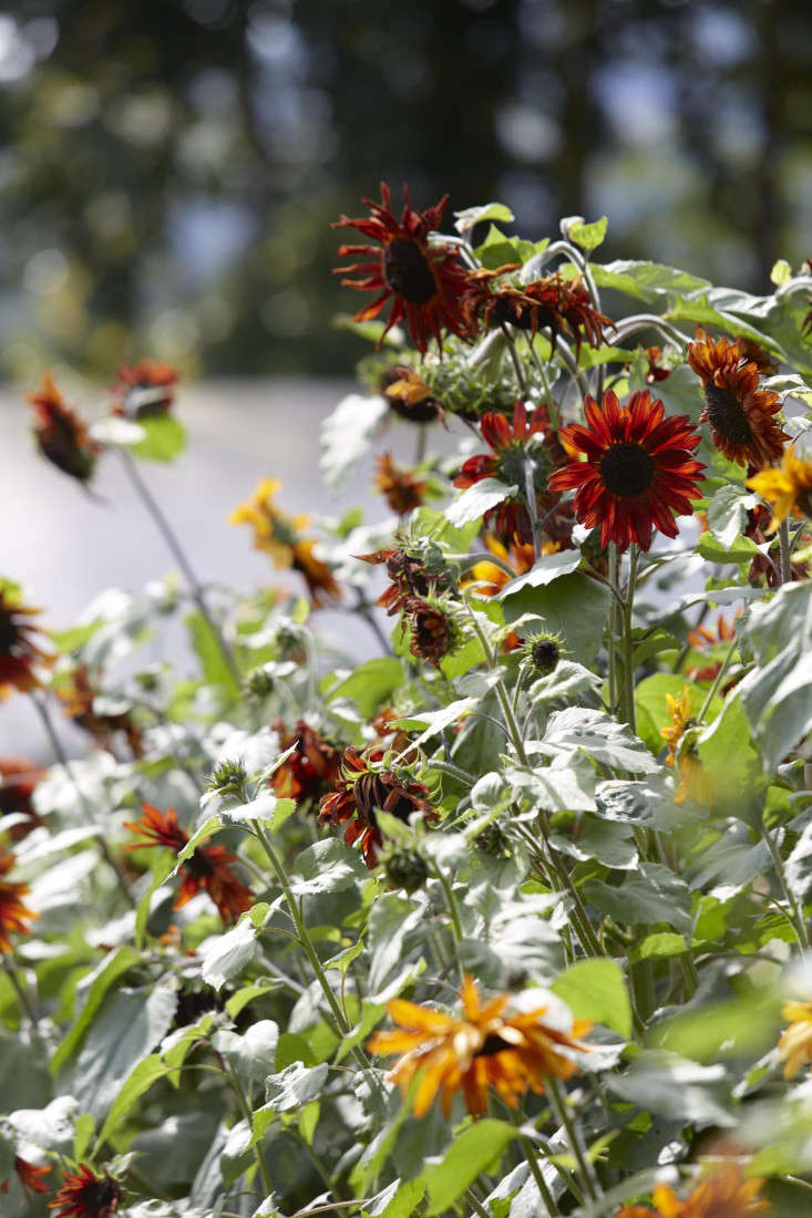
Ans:
[{"label": "shrivelled dark red flower with hanging petals at the clump's centre", "polygon": [[[395,770],[380,765],[383,749],[369,749],[365,755],[352,745],[344,750],[341,776],[335,789],[322,795],[319,825],[346,825],[347,845],[361,843],[368,867],[378,865],[378,848],[383,837],[377,812],[389,812],[408,823],[416,812],[424,820],[436,821],[438,815],[428,800],[429,788],[423,782],[401,777]],[[347,823],[349,822],[349,823]]]}]

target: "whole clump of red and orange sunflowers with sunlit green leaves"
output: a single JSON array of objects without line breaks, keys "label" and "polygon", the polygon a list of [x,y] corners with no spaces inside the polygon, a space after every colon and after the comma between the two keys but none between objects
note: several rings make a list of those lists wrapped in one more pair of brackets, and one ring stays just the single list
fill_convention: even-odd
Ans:
[{"label": "whole clump of red and orange sunflowers with sunlit green leaves", "polygon": [[[605,219],[365,205],[322,471],[380,519],[269,468],[265,587],[151,490],[173,369],[29,395],[177,576],[63,631],[0,582],[54,754],[0,756],[0,1213],[808,1214],[812,263],[752,296],[596,261]],[[144,658],[177,622],[191,671]]]}]

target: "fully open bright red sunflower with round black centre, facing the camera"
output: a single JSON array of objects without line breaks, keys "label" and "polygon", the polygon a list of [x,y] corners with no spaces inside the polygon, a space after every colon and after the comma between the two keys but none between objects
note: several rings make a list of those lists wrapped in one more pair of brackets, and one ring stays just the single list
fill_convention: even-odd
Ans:
[{"label": "fully open bright red sunflower with round black centre, facing the camera", "polygon": [[586,460],[556,470],[550,486],[575,490],[575,515],[588,529],[600,524],[602,547],[613,541],[623,552],[638,542],[649,549],[655,527],[675,537],[674,513],[693,512],[705,468],[693,457],[700,437],[688,415],[667,419],[647,390],[633,393],[625,407],[610,390],[602,406],[586,397],[584,409],[586,426],[564,428],[561,441]]}]

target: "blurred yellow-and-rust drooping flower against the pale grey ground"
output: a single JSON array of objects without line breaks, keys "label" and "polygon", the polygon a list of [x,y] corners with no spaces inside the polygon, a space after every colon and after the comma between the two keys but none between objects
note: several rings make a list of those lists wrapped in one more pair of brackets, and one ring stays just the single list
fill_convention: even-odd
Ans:
[{"label": "blurred yellow-and-rust drooping flower against the pale grey ground", "polygon": [[282,487],[277,479],[263,477],[257,482],[250,499],[234,508],[228,518],[232,525],[251,525],[254,549],[268,554],[278,570],[291,569],[304,577],[315,605],[324,599],[340,596],[327,563],[316,557],[317,542],[302,537],[301,530],[310,524],[308,515],[288,516],[274,504],[273,497]]}]

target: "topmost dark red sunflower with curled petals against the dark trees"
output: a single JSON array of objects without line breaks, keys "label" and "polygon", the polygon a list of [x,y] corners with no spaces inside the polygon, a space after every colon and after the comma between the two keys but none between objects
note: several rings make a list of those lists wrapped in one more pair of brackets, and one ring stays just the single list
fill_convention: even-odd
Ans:
[{"label": "topmost dark red sunflower with curled petals against the dark trees", "polygon": [[379,203],[371,199],[362,200],[372,213],[369,217],[352,220],[343,216],[333,224],[333,228],[355,228],[380,246],[339,246],[339,258],[360,256],[363,259],[337,267],[335,274],[356,276],[343,279],[341,285],[362,292],[379,292],[372,304],[356,313],[355,320],[369,322],[378,317],[391,297],[393,307],[384,334],[405,318],[412,342],[422,352],[432,336],[441,343],[443,330],[460,337],[471,334],[460,303],[466,272],[457,251],[447,245],[432,245],[428,240],[429,234],[439,229],[447,199],[444,195],[434,207],[417,212],[411,205],[408,186],[404,186],[404,211],[397,220],[391,209],[389,186],[382,183]]}]

